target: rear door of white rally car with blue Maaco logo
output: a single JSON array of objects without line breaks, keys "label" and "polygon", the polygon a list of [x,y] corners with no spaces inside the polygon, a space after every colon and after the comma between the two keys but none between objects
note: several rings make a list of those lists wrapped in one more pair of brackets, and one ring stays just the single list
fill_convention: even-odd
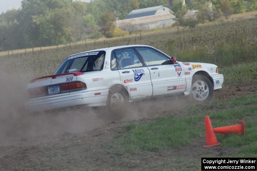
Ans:
[{"label": "rear door of white rally car with blue Maaco logo", "polygon": [[114,51],[122,84],[128,89],[130,99],[152,96],[150,71],[144,66],[133,48]]}]

